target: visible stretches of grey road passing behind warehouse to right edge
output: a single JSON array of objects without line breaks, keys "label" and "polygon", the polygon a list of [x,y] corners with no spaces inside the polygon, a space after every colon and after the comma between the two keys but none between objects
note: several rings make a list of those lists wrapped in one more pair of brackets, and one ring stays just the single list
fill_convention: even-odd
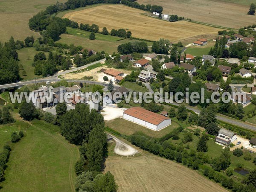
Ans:
[{"label": "visible stretches of grey road passing behind warehouse to right edge", "polygon": [[[154,91],[151,89],[150,87],[150,84],[149,83],[145,83],[145,86],[148,88],[149,92],[154,94]],[[179,103],[172,103],[172,105],[176,105],[176,106],[180,106],[181,104]],[[199,109],[195,109],[195,108],[192,108],[190,106],[186,106],[187,109],[189,110],[192,110],[194,111],[195,113],[199,114],[200,113],[200,110]],[[224,115],[216,115],[216,119],[220,120],[220,121],[224,121],[224,122],[227,122],[227,123],[230,123],[232,125],[236,125],[236,126],[239,126],[239,127],[242,127],[242,128],[246,128],[246,129],[250,129],[250,130],[253,130],[253,131],[256,131],[256,126],[254,125],[251,125],[251,124],[247,124],[243,121],[239,121],[239,120],[236,120],[236,119],[232,119],[228,116],[224,116]]]}]

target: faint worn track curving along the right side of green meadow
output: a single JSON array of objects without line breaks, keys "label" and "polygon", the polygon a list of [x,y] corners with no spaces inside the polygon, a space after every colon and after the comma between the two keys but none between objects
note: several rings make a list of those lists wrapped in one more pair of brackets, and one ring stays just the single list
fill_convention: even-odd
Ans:
[{"label": "faint worn track curving along the right side of green meadow", "polygon": [[73,154],[73,150],[72,148],[70,148],[70,146],[63,142],[62,140],[60,140],[58,137],[56,137],[55,135],[49,133],[48,131],[45,131],[44,129],[41,129],[35,125],[33,125],[31,122],[28,122],[28,121],[25,121],[27,122],[29,125],[31,125],[32,127],[38,129],[39,131],[42,131],[44,132],[45,134],[49,135],[50,137],[53,137],[55,140],[57,140],[59,143],[61,143],[62,145],[64,145],[67,149],[68,149],[68,152],[70,153],[70,163],[69,163],[69,171],[68,171],[68,175],[69,175],[69,181],[70,181],[70,186],[71,186],[71,191],[72,192],[75,192],[75,185],[74,185],[74,179],[73,178],[73,165],[74,165],[74,154]]}]

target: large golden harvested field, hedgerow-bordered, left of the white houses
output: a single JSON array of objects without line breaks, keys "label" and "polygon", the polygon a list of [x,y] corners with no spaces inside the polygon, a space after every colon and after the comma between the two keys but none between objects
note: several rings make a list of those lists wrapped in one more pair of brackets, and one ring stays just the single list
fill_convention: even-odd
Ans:
[{"label": "large golden harvested field, hedgerow-bordered, left of the white houses", "polygon": [[78,23],[97,24],[102,30],[128,29],[136,38],[178,41],[198,35],[217,35],[220,29],[187,21],[168,22],[142,15],[142,10],[122,5],[102,5],[90,9],[68,12],[63,17]]}]

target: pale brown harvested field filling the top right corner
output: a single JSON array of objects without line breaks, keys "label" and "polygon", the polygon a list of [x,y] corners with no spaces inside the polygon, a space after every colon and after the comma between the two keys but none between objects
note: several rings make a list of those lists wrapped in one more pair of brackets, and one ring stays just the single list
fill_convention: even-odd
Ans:
[{"label": "pale brown harvested field filling the top right corner", "polygon": [[[202,23],[239,29],[256,23],[256,17],[247,15],[250,6],[220,0],[138,0],[140,4],[163,6],[163,13],[191,18]],[[210,14],[209,14],[210,13]]]}]

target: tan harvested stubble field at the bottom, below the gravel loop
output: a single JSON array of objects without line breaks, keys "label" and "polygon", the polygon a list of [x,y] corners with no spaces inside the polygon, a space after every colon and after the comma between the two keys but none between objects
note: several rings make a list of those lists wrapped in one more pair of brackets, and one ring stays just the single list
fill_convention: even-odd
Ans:
[{"label": "tan harvested stubble field at the bottom, below the gravel loop", "polygon": [[120,192],[227,192],[197,172],[151,154],[109,156],[105,164]]}]

